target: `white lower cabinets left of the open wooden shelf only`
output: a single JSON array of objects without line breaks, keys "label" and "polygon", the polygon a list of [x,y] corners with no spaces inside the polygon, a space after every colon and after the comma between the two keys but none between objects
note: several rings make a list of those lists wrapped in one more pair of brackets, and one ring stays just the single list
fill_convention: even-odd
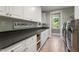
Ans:
[{"label": "white lower cabinets left of the open wooden shelf only", "polygon": [[2,49],[1,52],[36,52],[36,35]]}]

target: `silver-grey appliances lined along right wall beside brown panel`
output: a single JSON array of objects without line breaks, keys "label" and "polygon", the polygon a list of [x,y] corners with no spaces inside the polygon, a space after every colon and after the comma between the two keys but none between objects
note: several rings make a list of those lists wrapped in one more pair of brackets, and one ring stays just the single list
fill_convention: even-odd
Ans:
[{"label": "silver-grey appliances lined along right wall beside brown panel", "polygon": [[72,33],[74,31],[74,20],[68,21],[63,25],[63,37],[65,41],[65,50],[72,50]]}]

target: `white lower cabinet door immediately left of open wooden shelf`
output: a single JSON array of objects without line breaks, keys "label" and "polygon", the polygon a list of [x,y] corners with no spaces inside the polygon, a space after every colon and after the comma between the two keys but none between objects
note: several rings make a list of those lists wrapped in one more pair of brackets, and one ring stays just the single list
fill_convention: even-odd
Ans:
[{"label": "white lower cabinet door immediately left of open wooden shelf", "polygon": [[26,39],[26,52],[36,51],[36,35]]}]

